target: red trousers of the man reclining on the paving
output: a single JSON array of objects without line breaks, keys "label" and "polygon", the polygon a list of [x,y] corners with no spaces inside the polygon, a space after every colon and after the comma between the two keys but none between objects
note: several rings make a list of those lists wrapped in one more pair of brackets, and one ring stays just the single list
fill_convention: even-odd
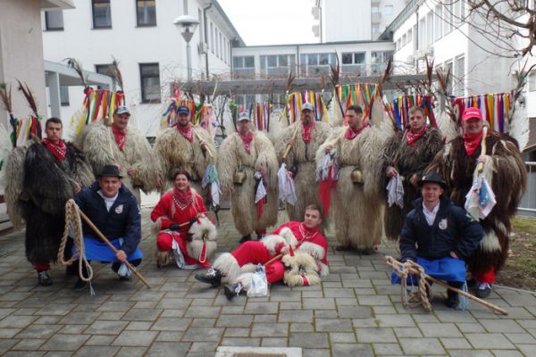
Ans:
[{"label": "red trousers of the man reclining on the paving", "polygon": [[[264,264],[273,257],[263,243],[258,241],[247,241],[242,243],[231,254],[235,257],[237,262],[239,262],[240,267],[247,263]],[[281,261],[275,261],[268,264],[268,266],[265,267],[265,271],[268,284],[273,284],[283,279],[285,267]]]}]

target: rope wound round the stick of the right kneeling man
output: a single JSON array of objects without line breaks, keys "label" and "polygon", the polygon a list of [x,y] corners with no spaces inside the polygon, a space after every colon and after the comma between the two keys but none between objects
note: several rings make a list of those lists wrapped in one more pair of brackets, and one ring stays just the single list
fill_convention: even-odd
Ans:
[{"label": "rope wound round the stick of the right kneeling man", "polygon": [[[394,269],[400,278],[400,300],[406,307],[415,307],[423,305],[425,311],[431,311],[431,285],[426,280],[424,269],[416,262],[406,261],[398,262],[393,257],[385,257],[387,264]],[[407,288],[407,279],[411,281],[411,288]],[[418,288],[415,291],[414,278],[419,279]],[[428,296],[430,295],[430,297]]]}]

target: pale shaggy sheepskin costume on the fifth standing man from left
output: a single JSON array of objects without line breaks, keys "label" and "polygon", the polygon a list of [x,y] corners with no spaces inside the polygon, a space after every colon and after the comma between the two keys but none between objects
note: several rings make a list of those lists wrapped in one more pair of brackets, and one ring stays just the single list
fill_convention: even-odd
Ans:
[{"label": "pale shaggy sheepskin costume on the fifth standing man from left", "polygon": [[[297,131],[296,131],[297,130]],[[287,149],[289,139],[296,135],[296,141],[286,160],[283,160],[283,154]],[[320,200],[318,182],[316,181],[316,163],[314,162],[318,147],[330,135],[330,124],[323,121],[316,121],[315,127],[311,132],[311,141],[306,144],[303,137],[302,122],[297,121],[288,128],[281,130],[281,134],[275,140],[277,158],[280,162],[287,165],[287,169],[296,168],[294,184],[296,186],[297,203],[291,205],[287,203],[287,213],[289,220],[303,220],[306,214],[306,206],[316,204],[322,207]],[[324,225],[326,221],[324,220]]]}]

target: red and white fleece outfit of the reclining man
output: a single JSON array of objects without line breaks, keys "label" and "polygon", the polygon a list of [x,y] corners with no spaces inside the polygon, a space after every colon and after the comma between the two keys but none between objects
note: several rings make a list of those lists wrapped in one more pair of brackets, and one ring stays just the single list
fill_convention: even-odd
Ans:
[{"label": "red and white fleece outfit of the reclining man", "polygon": [[[264,237],[260,242],[249,241],[239,246],[232,253],[223,253],[214,262],[214,269],[222,274],[222,281],[231,284],[241,283],[247,291],[251,278],[256,269],[256,264],[269,262],[284,247],[291,246],[294,249],[294,257],[282,257],[288,262],[289,270],[296,267],[295,271],[285,273],[285,265],[280,260],[271,262],[265,267],[266,279],[269,284],[284,280],[290,285],[314,285],[320,282],[320,278],[330,273],[328,267],[328,243],[323,237],[320,228],[308,229],[303,222],[289,222],[281,225],[272,232],[272,235]],[[311,259],[304,258],[302,254]],[[300,265],[310,278],[309,284],[301,278]],[[287,279],[285,280],[285,277]],[[316,277],[316,278],[315,278]],[[300,284],[301,281],[301,284]]]}]

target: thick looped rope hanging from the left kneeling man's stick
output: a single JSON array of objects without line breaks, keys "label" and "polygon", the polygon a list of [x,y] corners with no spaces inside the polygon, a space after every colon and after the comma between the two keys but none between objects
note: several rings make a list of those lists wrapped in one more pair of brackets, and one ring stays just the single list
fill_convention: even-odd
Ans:
[{"label": "thick looped rope hanging from the left kneeling man's stick", "polygon": [[[65,245],[67,245],[67,239],[71,233],[71,228],[73,228],[73,241],[74,241],[74,254],[67,261],[63,258],[63,252],[65,250]],[[84,235],[82,234],[82,221],[80,220],[80,208],[74,202],[73,199],[70,199],[65,203],[65,226],[63,228],[62,241],[60,243],[60,249],[58,250],[58,262],[61,262],[64,266],[71,266],[73,262],[79,261],[79,277],[81,280],[89,283],[89,289],[91,295],[95,295],[93,292],[93,287],[91,286],[91,279],[93,278],[93,269],[86,259],[86,250],[84,247]],[[79,259],[80,257],[80,259]],[[83,274],[83,265],[86,266],[88,271],[88,278],[84,277]]]}]

